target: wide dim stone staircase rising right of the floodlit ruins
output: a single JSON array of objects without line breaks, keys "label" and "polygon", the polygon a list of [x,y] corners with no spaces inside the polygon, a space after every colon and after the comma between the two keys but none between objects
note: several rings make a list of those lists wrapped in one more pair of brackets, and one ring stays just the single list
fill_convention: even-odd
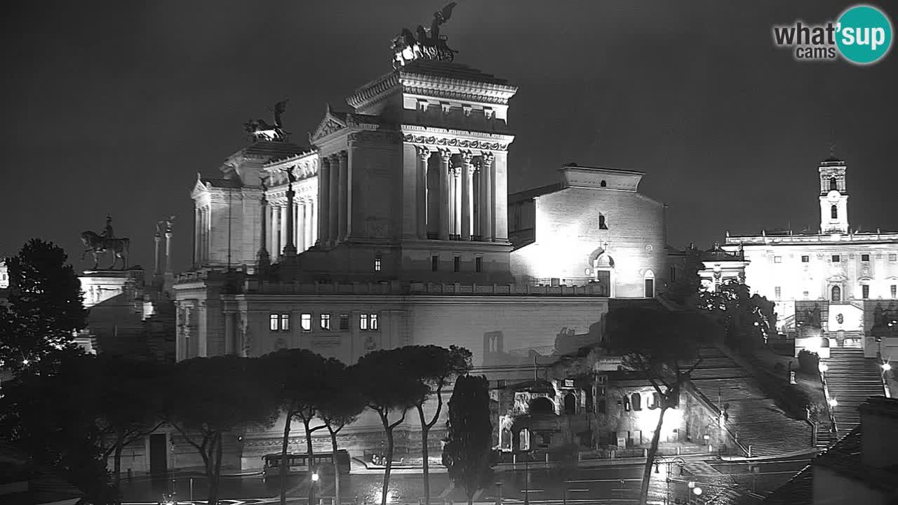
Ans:
[{"label": "wide dim stone staircase rising right of the floodlit ruins", "polygon": [[776,456],[813,447],[814,429],[792,419],[761,384],[723,350],[706,345],[691,383],[725,413],[726,429],[751,456]]}]

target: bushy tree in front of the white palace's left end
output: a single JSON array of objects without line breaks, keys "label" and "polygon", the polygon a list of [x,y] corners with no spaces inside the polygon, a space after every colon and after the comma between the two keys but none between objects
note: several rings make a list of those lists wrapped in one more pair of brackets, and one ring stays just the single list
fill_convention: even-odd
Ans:
[{"label": "bushy tree in front of the white palace's left end", "polygon": [[696,308],[717,318],[724,325],[727,344],[739,349],[762,345],[776,332],[774,306],[766,297],[751,295],[747,285],[735,280],[696,297]]}]

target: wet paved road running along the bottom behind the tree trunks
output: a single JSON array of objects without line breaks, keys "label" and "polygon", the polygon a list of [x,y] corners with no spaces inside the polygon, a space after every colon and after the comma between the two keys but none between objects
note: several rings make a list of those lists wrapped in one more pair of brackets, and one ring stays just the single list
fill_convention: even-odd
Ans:
[{"label": "wet paved road running along the bottom behind the tree trunks", "polygon": [[[650,481],[650,498],[663,502],[689,493],[688,483],[704,486],[706,492],[720,492],[723,488],[739,489],[740,492],[753,491],[765,494],[779,487],[807,464],[806,458],[774,460],[765,463],[726,463],[718,460],[697,460],[687,462],[685,470],[681,464],[672,464],[670,475],[666,465],[658,465]],[[595,468],[544,468],[531,465],[530,479],[524,482],[524,467],[516,471],[497,474],[497,482],[502,486],[489,486],[475,496],[475,501],[496,501],[501,493],[503,501],[518,503],[524,501],[524,494],[533,503],[618,503],[626,505],[638,497],[642,477],[641,465],[603,466]],[[318,496],[333,497],[333,477],[323,476]],[[668,477],[670,477],[668,481]],[[341,495],[344,501],[357,499],[359,503],[379,503],[383,476],[380,474],[350,474],[341,480]],[[191,503],[190,481],[187,477],[174,480],[179,503]],[[308,483],[304,475],[293,475],[287,479],[287,497],[290,501],[305,505]],[[430,475],[432,503],[441,500],[467,501],[460,489],[453,489],[447,474]],[[172,490],[170,479],[145,479],[133,483],[123,483],[125,501],[129,503],[155,503],[163,493]],[[219,495],[232,505],[252,505],[277,502],[280,492],[277,478],[264,479],[260,476],[223,477]],[[668,494],[670,493],[670,494]],[[393,474],[390,482],[388,501],[391,503],[417,503],[423,495],[421,474]],[[197,502],[206,497],[206,480],[193,477],[193,499]]]}]

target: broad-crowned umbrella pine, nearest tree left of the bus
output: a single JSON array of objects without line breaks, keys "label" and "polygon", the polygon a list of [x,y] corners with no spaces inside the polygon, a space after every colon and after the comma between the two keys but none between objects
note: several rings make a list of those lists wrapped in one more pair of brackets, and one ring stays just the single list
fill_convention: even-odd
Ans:
[{"label": "broad-crowned umbrella pine, nearest tree left of the bus", "polygon": [[277,399],[263,380],[260,359],[194,358],[172,368],[165,420],[203,459],[208,503],[218,503],[225,433],[274,424]]}]

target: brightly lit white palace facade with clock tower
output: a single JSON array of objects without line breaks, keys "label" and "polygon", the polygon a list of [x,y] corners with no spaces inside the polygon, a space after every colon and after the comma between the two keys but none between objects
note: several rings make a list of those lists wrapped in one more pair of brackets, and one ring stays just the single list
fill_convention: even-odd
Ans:
[{"label": "brightly lit white palace facade with clock tower", "polygon": [[847,165],[831,156],[817,171],[819,233],[727,233],[723,248],[744,253],[746,284],[776,302],[779,332],[797,337],[796,351],[842,345],[885,356],[898,338],[873,333],[898,316],[898,233],[853,231]]}]

